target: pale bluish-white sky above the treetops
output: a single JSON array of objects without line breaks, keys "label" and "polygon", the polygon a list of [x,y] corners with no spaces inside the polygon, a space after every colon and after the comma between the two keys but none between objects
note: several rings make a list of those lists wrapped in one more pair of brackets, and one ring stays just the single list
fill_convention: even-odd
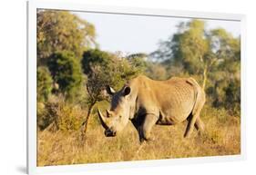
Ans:
[{"label": "pale bluish-white sky above the treetops", "polygon": [[[177,24],[189,18],[117,15],[74,12],[80,18],[94,24],[101,50],[122,53],[152,53],[160,40],[167,40],[177,32]],[[209,29],[224,28],[234,36],[241,34],[241,23],[237,21],[204,20]]]}]

